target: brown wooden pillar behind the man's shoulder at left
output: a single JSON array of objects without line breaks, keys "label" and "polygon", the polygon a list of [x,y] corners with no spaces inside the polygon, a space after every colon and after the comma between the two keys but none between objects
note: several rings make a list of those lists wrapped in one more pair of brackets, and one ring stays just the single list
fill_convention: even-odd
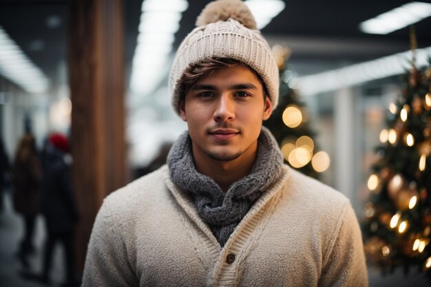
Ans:
[{"label": "brown wooden pillar behind the man's shoulder at left", "polygon": [[71,140],[81,272],[103,198],[126,183],[123,44],[122,0],[70,1]]}]

